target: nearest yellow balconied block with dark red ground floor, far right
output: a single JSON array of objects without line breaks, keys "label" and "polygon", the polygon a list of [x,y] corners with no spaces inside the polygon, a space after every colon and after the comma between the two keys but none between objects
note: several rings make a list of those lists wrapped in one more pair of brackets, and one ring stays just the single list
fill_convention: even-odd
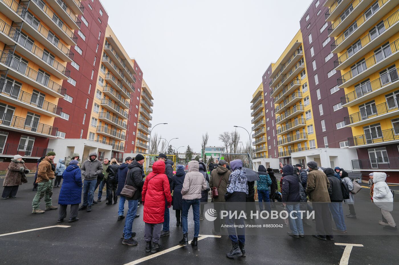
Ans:
[{"label": "nearest yellow balconied block with dark red ground floor, far right", "polygon": [[352,129],[354,170],[390,171],[399,181],[399,3],[395,0],[327,0],[326,21],[338,53],[344,126]]}]

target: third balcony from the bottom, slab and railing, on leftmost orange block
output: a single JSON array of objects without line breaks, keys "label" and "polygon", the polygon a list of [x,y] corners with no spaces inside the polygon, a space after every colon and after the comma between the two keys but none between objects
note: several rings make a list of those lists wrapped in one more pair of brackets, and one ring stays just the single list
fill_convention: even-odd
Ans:
[{"label": "third balcony from the bottom, slab and railing, on leftmost orange block", "polygon": [[5,84],[4,82],[0,82],[0,95],[2,96],[2,99],[12,104],[25,107],[50,117],[61,117],[61,107],[32,94],[26,93],[19,88]]}]

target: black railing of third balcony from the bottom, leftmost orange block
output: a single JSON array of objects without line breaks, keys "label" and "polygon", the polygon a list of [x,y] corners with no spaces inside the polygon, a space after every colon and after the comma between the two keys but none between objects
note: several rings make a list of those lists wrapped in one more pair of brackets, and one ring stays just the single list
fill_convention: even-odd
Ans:
[{"label": "black railing of third balcony from the bottom, leftmost orange block", "polygon": [[12,97],[24,103],[28,103],[32,106],[54,113],[56,115],[61,115],[61,107],[58,107],[53,103],[45,101],[44,99],[34,96],[32,94],[26,93],[25,91],[20,90],[20,88],[15,88],[14,86],[10,86],[1,81],[0,94],[7,95],[8,97]]}]

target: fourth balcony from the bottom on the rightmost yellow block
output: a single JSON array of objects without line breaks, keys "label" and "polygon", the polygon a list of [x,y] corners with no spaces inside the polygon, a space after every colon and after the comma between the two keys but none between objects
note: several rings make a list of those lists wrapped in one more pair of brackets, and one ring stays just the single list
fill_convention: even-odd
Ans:
[{"label": "fourth balcony from the bottom on the rightmost yellow block", "polygon": [[353,107],[399,86],[399,68],[341,97],[343,107]]}]

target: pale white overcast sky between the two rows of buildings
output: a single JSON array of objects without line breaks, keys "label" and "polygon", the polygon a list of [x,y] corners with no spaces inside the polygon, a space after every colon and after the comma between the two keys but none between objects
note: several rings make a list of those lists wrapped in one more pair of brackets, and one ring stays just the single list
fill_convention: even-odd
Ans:
[{"label": "pale white overcast sky between the two rows of buildings", "polygon": [[[311,0],[102,0],[109,25],[152,90],[154,132],[175,147],[251,131],[252,94]],[[249,137],[237,128],[241,140]],[[251,132],[250,132],[251,133]],[[186,148],[180,148],[179,152]]]}]

